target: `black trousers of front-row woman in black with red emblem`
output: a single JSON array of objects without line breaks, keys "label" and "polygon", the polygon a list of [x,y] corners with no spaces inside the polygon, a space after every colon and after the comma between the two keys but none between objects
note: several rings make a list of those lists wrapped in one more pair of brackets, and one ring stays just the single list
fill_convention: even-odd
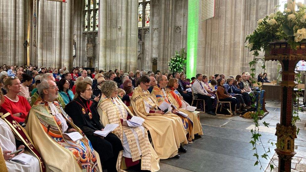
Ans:
[{"label": "black trousers of front-row woman in black with red emblem", "polygon": [[98,152],[103,169],[108,172],[117,171],[116,163],[119,152],[123,150],[121,140],[113,133],[109,133],[105,138],[99,136],[87,136],[93,149]]}]

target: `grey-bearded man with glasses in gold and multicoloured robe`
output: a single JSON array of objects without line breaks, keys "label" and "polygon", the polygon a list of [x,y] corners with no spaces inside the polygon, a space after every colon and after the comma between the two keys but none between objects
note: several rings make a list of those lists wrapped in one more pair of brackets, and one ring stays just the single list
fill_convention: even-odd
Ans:
[{"label": "grey-bearded man with glasses in gold and multicoloured robe", "polygon": [[[43,79],[37,89],[40,97],[29,112],[25,129],[45,160],[47,171],[102,171],[90,141],[54,101],[58,97],[55,82]],[[65,134],[72,132],[81,138],[73,141]]]}]

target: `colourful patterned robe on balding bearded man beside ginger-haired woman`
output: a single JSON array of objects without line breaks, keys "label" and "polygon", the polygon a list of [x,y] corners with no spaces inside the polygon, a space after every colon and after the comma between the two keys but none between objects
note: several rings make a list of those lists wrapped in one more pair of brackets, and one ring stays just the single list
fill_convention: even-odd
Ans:
[{"label": "colourful patterned robe on balding bearded man beside ginger-haired woman", "polygon": [[[159,85],[156,85],[153,87],[153,90],[151,92],[152,97],[156,98],[156,101],[158,102],[158,105],[160,105],[162,102],[167,102],[168,104],[171,104],[172,100],[166,93],[166,91],[161,88]],[[178,108],[178,107],[177,107]],[[177,115],[182,119],[183,126],[185,130],[189,133],[188,141],[191,142],[191,133],[193,130],[193,122],[189,117],[183,117],[182,115]]]}]

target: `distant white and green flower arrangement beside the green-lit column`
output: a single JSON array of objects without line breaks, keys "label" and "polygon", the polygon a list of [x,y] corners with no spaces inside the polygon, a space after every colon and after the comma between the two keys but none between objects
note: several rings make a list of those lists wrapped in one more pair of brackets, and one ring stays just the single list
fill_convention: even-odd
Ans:
[{"label": "distant white and green flower arrangement beside the green-lit column", "polygon": [[185,49],[181,49],[181,51],[175,51],[175,55],[170,58],[168,62],[169,70],[171,73],[179,72],[181,73],[186,66],[187,59],[186,59],[186,52]]}]

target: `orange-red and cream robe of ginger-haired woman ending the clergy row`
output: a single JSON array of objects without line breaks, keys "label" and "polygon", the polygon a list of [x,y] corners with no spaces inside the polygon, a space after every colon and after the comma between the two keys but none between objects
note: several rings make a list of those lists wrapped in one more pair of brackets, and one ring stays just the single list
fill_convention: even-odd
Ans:
[{"label": "orange-red and cream robe of ginger-haired woman ending the clergy row", "polygon": [[[182,95],[173,88],[167,88],[166,89],[169,97],[171,100],[173,100],[171,103],[174,104],[174,106],[176,106],[177,108],[179,108],[178,110],[186,113],[188,115],[188,117],[192,120],[193,122],[193,131],[191,134],[191,138],[194,139],[194,134],[199,134],[199,135],[203,135],[203,128],[202,125],[200,123],[200,119],[198,118],[197,114],[195,112],[190,112],[187,111],[186,108],[189,104],[187,102],[184,101]],[[184,104],[184,106],[183,106]]]}]

